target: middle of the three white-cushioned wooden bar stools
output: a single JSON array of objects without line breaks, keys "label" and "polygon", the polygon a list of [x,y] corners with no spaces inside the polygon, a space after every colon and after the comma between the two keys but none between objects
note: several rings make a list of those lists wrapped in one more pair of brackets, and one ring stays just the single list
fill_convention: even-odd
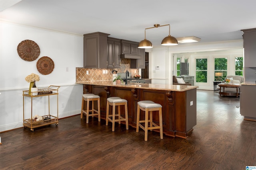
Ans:
[{"label": "middle of the three white-cushioned wooden bar stools", "polygon": [[[120,115],[120,106],[124,105],[125,118]],[[112,106],[112,115],[109,114],[109,106]],[[118,114],[116,114],[116,106],[118,106]],[[118,119],[115,117],[118,116]],[[112,117],[112,119],[110,118]],[[119,97],[111,97],[107,99],[107,114],[106,114],[106,126],[108,121],[112,122],[112,131],[115,131],[115,122],[126,121],[126,130],[128,130],[128,110],[127,110],[127,100],[121,99]]]}]

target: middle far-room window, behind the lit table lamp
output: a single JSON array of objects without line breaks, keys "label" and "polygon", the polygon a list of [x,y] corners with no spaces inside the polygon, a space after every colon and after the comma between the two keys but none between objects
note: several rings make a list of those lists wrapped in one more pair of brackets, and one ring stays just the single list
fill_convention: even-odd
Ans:
[{"label": "middle far-room window, behind the lit table lamp", "polygon": [[[227,76],[228,58],[214,59],[214,81],[222,81]],[[215,76],[216,72],[222,72],[222,76]]]}]

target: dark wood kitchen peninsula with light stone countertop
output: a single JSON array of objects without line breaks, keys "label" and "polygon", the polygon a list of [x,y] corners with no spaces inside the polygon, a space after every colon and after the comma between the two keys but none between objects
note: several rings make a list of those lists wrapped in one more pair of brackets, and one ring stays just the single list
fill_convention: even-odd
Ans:
[{"label": "dark wood kitchen peninsula with light stone countertop", "polygon": [[[151,100],[162,105],[163,128],[168,136],[186,138],[196,125],[196,88],[198,86],[125,85],[113,84],[111,80],[76,83],[83,84],[84,94],[93,93],[100,96],[102,119],[106,119],[106,99],[118,96],[128,101],[128,121],[134,128],[136,128],[137,102],[141,100]],[[124,110],[122,107],[121,109]],[[121,112],[124,113],[124,111]],[[158,117],[153,117],[153,121],[158,123]]]}]

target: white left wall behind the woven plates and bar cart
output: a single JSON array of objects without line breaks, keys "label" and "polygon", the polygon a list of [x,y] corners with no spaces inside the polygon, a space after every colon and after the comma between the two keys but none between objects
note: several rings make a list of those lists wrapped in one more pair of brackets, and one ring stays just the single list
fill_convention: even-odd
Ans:
[{"label": "white left wall behind the woven plates and bar cart", "polygon": [[[35,41],[40,47],[38,59],[47,56],[54,61],[52,73],[40,74],[36,68],[38,59],[24,61],[19,57],[17,46],[26,39]],[[40,76],[40,81],[36,82],[38,88],[61,86],[58,96],[59,117],[80,113],[82,85],[75,84],[76,67],[83,67],[82,36],[0,22],[0,131],[22,127],[22,90],[28,90],[29,83],[25,77],[31,73]],[[56,98],[51,96],[50,102],[56,105]],[[40,108],[48,104],[44,97],[34,98],[33,103],[33,114],[47,113],[42,113],[44,109]],[[61,107],[62,104],[64,107]],[[30,101],[25,99],[25,107],[29,106]],[[56,108],[51,113],[56,115]]]}]

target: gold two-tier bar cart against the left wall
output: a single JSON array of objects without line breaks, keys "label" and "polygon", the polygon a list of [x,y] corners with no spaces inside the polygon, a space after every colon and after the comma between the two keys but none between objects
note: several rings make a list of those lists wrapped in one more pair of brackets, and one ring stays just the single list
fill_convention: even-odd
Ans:
[{"label": "gold two-tier bar cart against the left wall", "polygon": [[[58,125],[58,90],[60,86],[52,86],[50,85],[46,89],[38,89],[38,92],[29,92],[29,90],[24,90],[23,92],[23,126],[29,127],[31,131],[34,131],[34,128],[46,126],[50,124]],[[38,93],[37,95],[34,95],[33,93]],[[50,114],[50,96],[56,95],[57,96],[57,116]],[[43,115],[42,121],[33,121],[33,113],[32,113],[32,107],[33,107],[33,98],[42,97],[42,96],[48,96],[48,115]],[[25,109],[24,109],[24,98],[28,97],[31,98],[31,117],[29,119],[25,119]]]}]

